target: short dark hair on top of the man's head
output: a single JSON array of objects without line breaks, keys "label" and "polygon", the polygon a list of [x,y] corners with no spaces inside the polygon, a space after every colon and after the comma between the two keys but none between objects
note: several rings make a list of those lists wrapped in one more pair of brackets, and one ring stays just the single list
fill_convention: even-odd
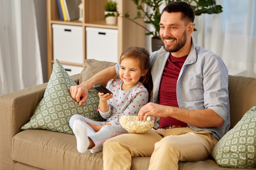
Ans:
[{"label": "short dark hair on top of the man's head", "polygon": [[167,13],[177,13],[177,12],[181,12],[182,13],[182,19],[186,18],[188,23],[189,22],[194,22],[195,20],[195,12],[193,10],[193,8],[184,1],[175,1],[175,2],[171,2],[170,4],[166,5],[166,7],[163,9],[163,12],[167,12]]}]

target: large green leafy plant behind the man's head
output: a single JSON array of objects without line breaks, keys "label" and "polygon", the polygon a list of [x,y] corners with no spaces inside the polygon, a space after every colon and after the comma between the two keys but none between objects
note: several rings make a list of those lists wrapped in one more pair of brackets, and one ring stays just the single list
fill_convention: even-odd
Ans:
[{"label": "large green leafy plant behind the man's head", "polygon": [[[125,18],[128,18],[132,22],[135,22],[137,18],[145,18],[144,22],[145,24],[152,24],[156,31],[150,31],[145,26],[142,26],[141,24],[135,22],[137,25],[143,27],[145,30],[147,30],[146,35],[153,35],[153,38],[161,39],[159,35],[160,31],[160,18],[161,18],[161,11],[160,11],[160,5],[165,2],[166,5],[174,2],[174,1],[182,1],[182,0],[132,0],[136,5],[137,9],[137,16],[133,19],[129,18],[129,14],[126,13]],[[191,7],[195,11],[195,15],[201,15],[203,13],[208,14],[218,14],[222,12],[222,6],[216,5],[215,0],[183,0],[186,1],[191,5]],[[146,7],[145,5],[146,4]],[[142,15],[143,13],[143,15]],[[196,31],[196,29],[194,29]]]}]

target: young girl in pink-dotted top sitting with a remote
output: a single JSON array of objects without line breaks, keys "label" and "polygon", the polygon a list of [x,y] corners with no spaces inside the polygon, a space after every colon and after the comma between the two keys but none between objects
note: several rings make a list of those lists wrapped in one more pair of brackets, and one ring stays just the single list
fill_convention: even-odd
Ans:
[{"label": "young girl in pink-dotted top sitting with a remote", "polygon": [[98,111],[106,122],[92,121],[81,115],[73,115],[69,120],[76,136],[78,152],[84,153],[87,149],[90,149],[91,153],[102,151],[104,141],[127,133],[119,124],[117,117],[137,115],[139,109],[147,104],[149,68],[150,59],[145,48],[129,47],[122,53],[119,74],[106,86],[113,94],[98,94]]}]

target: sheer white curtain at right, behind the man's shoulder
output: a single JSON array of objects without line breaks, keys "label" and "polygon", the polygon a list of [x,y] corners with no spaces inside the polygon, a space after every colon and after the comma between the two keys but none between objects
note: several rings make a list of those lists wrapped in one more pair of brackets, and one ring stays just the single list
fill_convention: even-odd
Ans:
[{"label": "sheer white curtain at right, behind the man's shoulder", "polygon": [[213,51],[230,75],[256,77],[256,1],[216,0],[220,14],[196,16],[192,36],[198,45]]}]

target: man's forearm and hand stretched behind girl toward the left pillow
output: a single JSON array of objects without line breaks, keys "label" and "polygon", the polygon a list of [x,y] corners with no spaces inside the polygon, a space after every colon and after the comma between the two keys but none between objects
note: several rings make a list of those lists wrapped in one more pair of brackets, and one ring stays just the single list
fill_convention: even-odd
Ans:
[{"label": "man's forearm and hand stretched behind girl toward the left pillow", "polygon": [[70,95],[73,99],[79,102],[79,105],[81,106],[87,100],[88,91],[93,88],[93,84],[107,84],[107,82],[113,79],[115,75],[115,66],[106,68],[95,74],[91,79],[86,80],[77,86],[71,86]]}]

